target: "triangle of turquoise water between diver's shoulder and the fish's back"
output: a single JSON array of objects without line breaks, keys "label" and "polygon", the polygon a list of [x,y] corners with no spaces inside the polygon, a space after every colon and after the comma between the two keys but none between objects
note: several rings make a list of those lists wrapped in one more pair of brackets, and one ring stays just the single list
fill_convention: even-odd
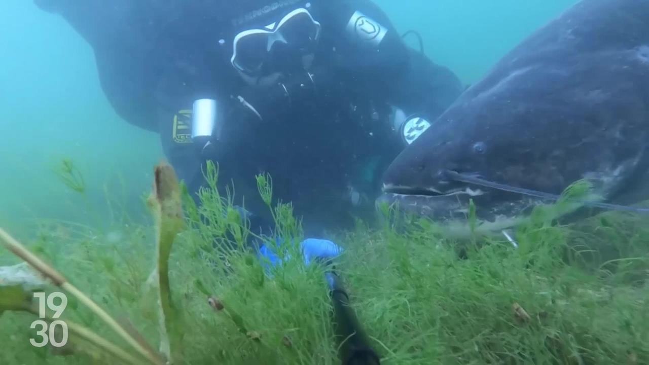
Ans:
[{"label": "triangle of turquoise water between diver's shoulder and the fish's back", "polygon": [[[426,55],[475,82],[526,36],[576,0],[382,0],[398,31],[421,32]],[[410,37],[410,36],[409,36]],[[415,38],[407,38],[417,47]]]}]

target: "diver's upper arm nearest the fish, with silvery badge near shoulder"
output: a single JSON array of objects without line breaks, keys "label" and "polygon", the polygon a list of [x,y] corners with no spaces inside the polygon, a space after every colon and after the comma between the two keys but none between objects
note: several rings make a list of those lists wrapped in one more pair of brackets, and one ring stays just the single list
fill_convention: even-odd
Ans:
[{"label": "diver's upper arm nearest the fish, with silvery badge near shoulder", "polygon": [[332,0],[328,6],[325,14],[341,39],[339,66],[364,76],[369,92],[400,108],[404,116],[432,121],[463,91],[450,69],[408,47],[372,1]]}]

